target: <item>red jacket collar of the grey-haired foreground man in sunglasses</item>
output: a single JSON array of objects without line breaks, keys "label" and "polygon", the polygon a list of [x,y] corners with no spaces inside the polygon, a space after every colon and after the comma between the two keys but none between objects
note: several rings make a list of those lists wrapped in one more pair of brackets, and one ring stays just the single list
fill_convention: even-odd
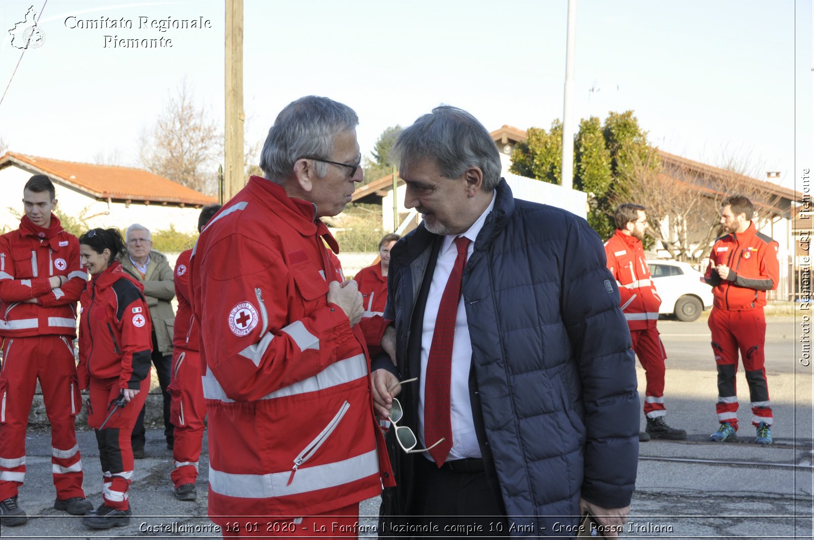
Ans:
[{"label": "red jacket collar of the grey-haired foreground man in sunglasses", "polygon": [[339,244],[336,243],[328,227],[322,223],[322,220],[317,220],[317,206],[313,202],[289,197],[282,185],[260,176],[249,178],[246,187],[261,204],[278,213],[301,235],[304,237],[320,236],[334,253],[339,253]]}]

